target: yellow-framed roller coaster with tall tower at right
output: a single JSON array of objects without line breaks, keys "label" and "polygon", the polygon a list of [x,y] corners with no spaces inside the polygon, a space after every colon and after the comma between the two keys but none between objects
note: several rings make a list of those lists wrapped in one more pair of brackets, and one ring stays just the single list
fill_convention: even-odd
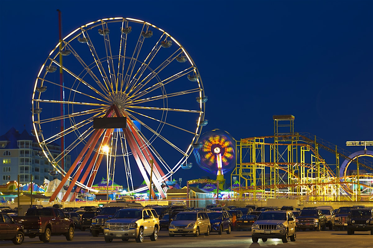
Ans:
[{"label": "yellow-framed roller coaster with tall tower at right", "polygon": [[256,200],[372,201],[373,163],[311,133],[294,132],[294,116],[273,116],[274,135],[236,141],[232,189]]}]

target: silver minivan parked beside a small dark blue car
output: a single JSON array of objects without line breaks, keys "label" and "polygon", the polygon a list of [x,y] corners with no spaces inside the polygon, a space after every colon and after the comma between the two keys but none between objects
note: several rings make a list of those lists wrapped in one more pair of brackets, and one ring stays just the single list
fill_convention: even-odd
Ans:
[{"label": "silver minivan parked beside a small dark blue car", "polygon": [[210,235],[211,224],[209,216],[203,211],[183,211],[178,213],[168,228],[169,236],[194,235],[198,237],[200,233]]}]

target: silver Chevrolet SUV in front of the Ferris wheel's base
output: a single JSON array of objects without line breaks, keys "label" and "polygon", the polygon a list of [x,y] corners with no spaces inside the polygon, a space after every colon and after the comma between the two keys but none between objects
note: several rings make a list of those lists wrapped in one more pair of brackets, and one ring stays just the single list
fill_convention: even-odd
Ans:
[{"label": "silver Chevrolet SUV in front of the Ferris wheel's base", "polygon": [[112,219],[106,221],[104,238],[105,242],[134,238],[140,243],[144,241],[144,236],[150,236],[151,241],[156,241],[158,230],[159,218],[156,210],[150,207],[125,208],[118,210]]}]

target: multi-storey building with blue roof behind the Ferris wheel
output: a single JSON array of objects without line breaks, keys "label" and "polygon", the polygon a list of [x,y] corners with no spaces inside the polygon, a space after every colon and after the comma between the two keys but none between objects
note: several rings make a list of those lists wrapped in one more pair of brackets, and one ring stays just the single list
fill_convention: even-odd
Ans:
[{"label": "multi-storey building with blue roof behind the Ferris wheel", "polygon": [[[49,144],[48,149],[52,153],[61,153],[61,146],[55,143]],[[70,158],[70,155],[66,155],[65,170],[70,168]],[[31,175],[32,181],[39,185],[44,184],[44,178],[50,181],[54,178],[61,179],[60,174],[57,176],[50,173],[54,170],[41,152],[35,136],[29,135],[26,130],[19,133],[15,128],[11,128],[0,136],[0,185],[17,181],[18,175],[21,184],[29,183]]]}]

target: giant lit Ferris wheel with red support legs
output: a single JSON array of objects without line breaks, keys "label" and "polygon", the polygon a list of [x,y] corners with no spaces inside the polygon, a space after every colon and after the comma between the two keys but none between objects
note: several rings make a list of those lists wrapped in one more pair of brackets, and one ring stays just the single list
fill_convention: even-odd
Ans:
[{"label": "giant lit Ferris wheel with red support legs", "polygon": [[[32,95],[32,132],[63,178],[51,201],[63,185],[63,201],[91,190],[98,171],[129,190],[141,175],[164,197],[162,182],[186,163],[207,124],[206,101],[197,66],[164,30],[123,17],[77,28],[50,52]],[[96,118],[112,117],[125,117],[125,128],[94,128]]]}]

